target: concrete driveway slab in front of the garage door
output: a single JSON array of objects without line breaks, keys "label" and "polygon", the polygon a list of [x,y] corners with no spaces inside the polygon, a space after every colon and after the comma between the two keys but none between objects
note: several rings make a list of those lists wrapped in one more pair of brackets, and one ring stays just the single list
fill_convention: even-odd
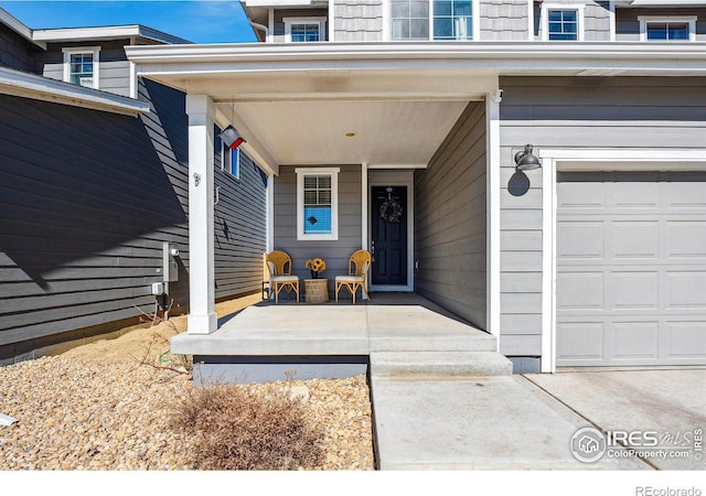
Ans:
[{"label": "concrete driveway slab in front of the garage door", "polygon": [[[659,470],[706,470],[706,368],[524,377],[602,431],[603,457],[630,456]],[[588,434],[590,441],[595,433]],[[629,450],[611,450],[618,444]]]}]

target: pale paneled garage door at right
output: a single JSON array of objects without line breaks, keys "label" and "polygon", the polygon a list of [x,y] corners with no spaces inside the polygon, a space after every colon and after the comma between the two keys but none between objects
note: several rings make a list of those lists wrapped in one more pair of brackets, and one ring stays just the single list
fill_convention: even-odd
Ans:
[{"label": "pale paneled garage door at right", "polygon": [[706,364],[706,173],[565,172],[557,366]]}]

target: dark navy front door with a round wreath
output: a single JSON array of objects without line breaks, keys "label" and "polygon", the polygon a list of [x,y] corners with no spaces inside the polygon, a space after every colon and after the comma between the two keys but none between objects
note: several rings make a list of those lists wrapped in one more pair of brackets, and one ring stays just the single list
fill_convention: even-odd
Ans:
[{"label": "dark navy front door with a round wreath", "polygon": [[372,283],[407,284],[407,187],[373,186]]}]

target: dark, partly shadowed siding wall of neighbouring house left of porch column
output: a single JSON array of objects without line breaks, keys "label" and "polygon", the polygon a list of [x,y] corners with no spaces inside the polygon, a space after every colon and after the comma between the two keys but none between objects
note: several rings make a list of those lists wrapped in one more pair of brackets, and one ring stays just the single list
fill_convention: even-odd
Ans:
[{"label": "dark, partly shadowed siding wall of neighbouring house left of porch column", "polygon": [[184,263],[188,237],[145,125],[22,98],[0,106],[0,346],[150,310],[162,241]]}]

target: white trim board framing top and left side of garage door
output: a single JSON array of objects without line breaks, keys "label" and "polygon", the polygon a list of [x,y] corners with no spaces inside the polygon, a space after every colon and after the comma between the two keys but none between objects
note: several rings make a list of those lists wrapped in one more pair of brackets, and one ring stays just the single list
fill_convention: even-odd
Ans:
[{"label": "white trim board framing top and left side of garage door", "polygon": [[556,371],[557,171],[706,171],[706,149],[538,149],[542,160],[542,371]]}]

